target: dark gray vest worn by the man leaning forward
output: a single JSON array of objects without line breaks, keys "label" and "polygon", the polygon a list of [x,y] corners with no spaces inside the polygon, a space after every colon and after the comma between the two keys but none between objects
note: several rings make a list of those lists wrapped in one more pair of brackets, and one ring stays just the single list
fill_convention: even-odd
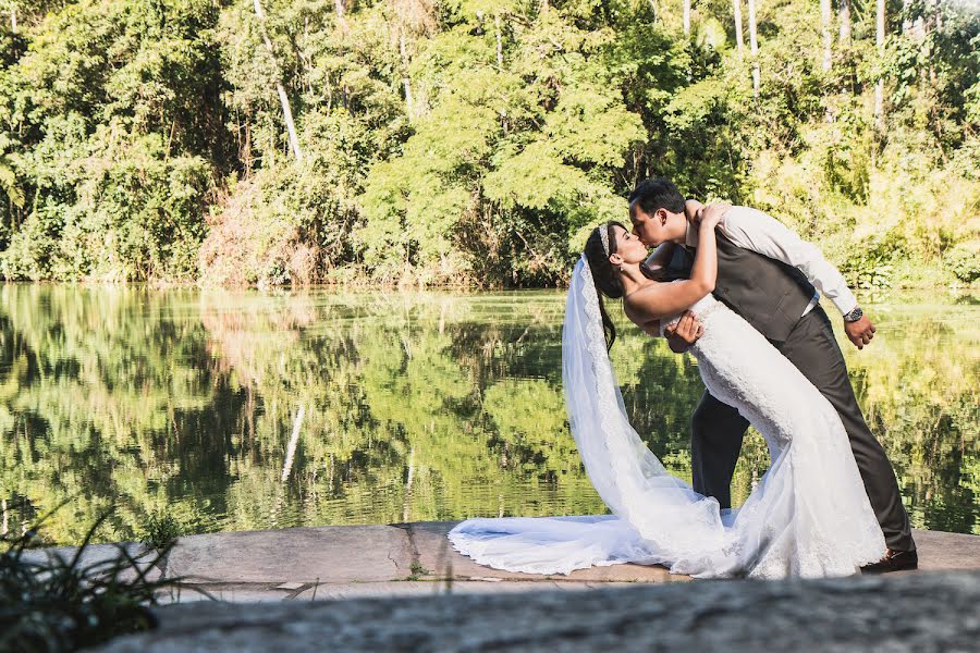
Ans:
[{"label": "dark gray vest worn by the man leaning forward", "polygon": [[[769,340],[785,341],[817,291],[793,266],[738,247],[719,232],[715,236],[714,296]],[[687,268],[685,278],[690,273],[690,257],[687,258],[682,263]],[[675,266],[672,261],[670,267]]]}]

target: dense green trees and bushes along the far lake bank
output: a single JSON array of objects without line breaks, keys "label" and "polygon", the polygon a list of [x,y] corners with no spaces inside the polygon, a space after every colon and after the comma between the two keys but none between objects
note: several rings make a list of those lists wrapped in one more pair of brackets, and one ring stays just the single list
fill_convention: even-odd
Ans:
[{"label": "dense green trees and bushes along the far lake bank", "polygon": [[648,175],[980,278],[959,0],[13,0],[0,276],[562,283]]}]

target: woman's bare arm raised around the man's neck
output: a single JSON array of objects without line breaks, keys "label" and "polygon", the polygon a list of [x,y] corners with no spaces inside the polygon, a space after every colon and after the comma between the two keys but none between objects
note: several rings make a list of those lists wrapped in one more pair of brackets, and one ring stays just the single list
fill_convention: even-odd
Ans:
[{"label": "woman's bare arm raised around the man's neck", "polygon": [[698,226],[698,254],[690,279],[650,284],[626,297],[634,321],[649,322],[675,316],[714,289],[718,276],[718,249],[714,239],[714,227],[720,219],[718,213],[709,211],[701,218]]}]

